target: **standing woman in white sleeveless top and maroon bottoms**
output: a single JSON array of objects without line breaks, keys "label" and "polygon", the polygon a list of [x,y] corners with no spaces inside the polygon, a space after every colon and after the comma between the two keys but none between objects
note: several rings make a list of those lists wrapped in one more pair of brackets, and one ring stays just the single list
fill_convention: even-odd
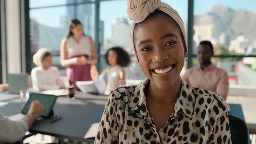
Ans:
[{"label": "standing woman in white sleeveless top and maroon bottoms", "polygon": [[[76,81],[90,81],[91,64],[97,62],[95,45],[90,36],[86,36],[80,21],[69,22],[68,34],[60,46],[61,65],[66,67],[66,76],[70,85]],[[79,90],[75,85],[76,90]]]}]

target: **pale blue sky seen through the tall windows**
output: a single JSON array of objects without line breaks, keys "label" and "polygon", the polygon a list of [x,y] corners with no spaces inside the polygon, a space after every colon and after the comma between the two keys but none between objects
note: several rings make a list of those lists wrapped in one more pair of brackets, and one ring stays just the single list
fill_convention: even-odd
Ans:
[{"label": "pale blue sky seen through the tall windows", "polygon": [[[188,18],[188,0],[162,0],[178,11],[181,18]],[[65,4],[64,0],[30,0],[30,7]],[[201,15],[211,11],[215,5],[229,6],[233,10],[246,10],[256,14],[256,0],[194,0],[194,15]],[[126,0],[103,1],[100,3],[100,20],[104,21],[105,37],[111,35],[112,24],[117,18],[125,17]],[[93,5],[94,8],[94,5]],[[60,27],[60,16],[67,13],[66,7],[54,7],[46,9],[30,10],[30,17],[35,18],[40,24]]]}]

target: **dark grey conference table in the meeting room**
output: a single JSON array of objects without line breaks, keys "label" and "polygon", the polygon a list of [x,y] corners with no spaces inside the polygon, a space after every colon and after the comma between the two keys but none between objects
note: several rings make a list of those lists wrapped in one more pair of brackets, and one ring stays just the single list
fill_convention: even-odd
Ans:
[{"label": "dark grey conference table in the meeting room", "polygon": [[[51,123],[49,119],[38,120],[29,130],[33,134],[45,134],[57,138],[66,138],[81,142],[93,143],[94,138],[85,139],[91,125],[99,123],[104,111],[108,96],[92,95],[78,92],[75,100],[66,96],[59,96],[53,107],[55,114],[62,113],[62,119]],[[6,116],[18,114],[22,110],[19,94],[0,93],[0,101],[9,102],[5,108],[0,109],[0,113]],[[229,114],[239,117],[245,121],[240,104],[229,104],[231,111]]]}]

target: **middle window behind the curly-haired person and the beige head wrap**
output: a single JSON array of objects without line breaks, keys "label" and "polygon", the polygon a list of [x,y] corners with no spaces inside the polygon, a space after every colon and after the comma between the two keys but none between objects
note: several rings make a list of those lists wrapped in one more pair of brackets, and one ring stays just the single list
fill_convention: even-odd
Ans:
[{"label": "middle window behind the curly-haired person and the beige head wrap", "polygon": [[[184,23],[188,17],[188,1],[182,0],[178,3],[171,3],[169,0],[163,0],[172,5],[179,12]],[[114,9],[110,9],[114,7]],[[127,13],[127,1],[126,0],[110,0],[100,2],[100,24],[103,25],[100,29],[100,67],[107,68],[104,61],[104,54],[107,50],[113,46],[120,46],[124,48],[131,55],[131,63],[129,67],[125,68],[127,79],[145,79],[146,76],[142,71],[138,69],[138,62],[134,55],[133,47],[130,40],[130,29],[132,21],[129,20]],[[186,26],[187,24],[185,24]]]}]

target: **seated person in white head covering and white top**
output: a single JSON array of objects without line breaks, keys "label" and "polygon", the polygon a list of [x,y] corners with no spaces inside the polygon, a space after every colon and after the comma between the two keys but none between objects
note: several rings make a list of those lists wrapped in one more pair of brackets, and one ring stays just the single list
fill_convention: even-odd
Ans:
[{"label": "seated person in white head covering and white top", "polygon": [[52,66],[52,55],[47,49],[39,49],[33,55],[33,62],[37,66],[31,71],[34,90],[65,89],[60,79],[59,69]]}]

